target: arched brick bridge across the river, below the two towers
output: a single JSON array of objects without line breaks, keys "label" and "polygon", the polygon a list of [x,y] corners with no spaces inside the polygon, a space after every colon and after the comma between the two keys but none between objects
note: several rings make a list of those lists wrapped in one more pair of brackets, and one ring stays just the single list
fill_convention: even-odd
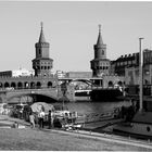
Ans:
[{"label": "arched brick bridge across the river, below the two towers", "polygon": [[[113,84],[124,84],[124,78],[109,76],[105,78],[55,78],[55,77],[18,77],[0,79],[0,102],[56,102],[63,98],[74,101],[74,86],[72,81],[84,81],[88,85],[97,84],[103,88]],[[97,83],[96,83],[97,81]],[[60,83],[65,83],[62,86]],[[65,88],[64,88],[65,87]]]}]

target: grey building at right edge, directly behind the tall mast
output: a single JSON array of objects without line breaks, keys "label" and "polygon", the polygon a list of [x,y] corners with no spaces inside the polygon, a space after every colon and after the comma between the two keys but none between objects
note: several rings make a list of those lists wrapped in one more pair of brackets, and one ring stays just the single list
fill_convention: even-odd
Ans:
[{"label": "grey building at right edge, directly behind the tall mast", "polygon": [[[139,61],[139,53],[138,61]],[[143,50],[143,96],[152,93],[152,50]],[[137,66],[125,68],[125,81],[128,94],[139,94],[139,62]]]}]

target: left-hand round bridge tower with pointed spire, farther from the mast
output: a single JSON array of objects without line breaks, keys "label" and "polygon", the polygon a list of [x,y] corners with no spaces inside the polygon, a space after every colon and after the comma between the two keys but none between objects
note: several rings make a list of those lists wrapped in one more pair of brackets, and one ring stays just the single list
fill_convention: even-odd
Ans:
[{"label": "left-hand round bridge tower with pointed spire, farther from the mast", "polygon": [[49,76],[51,74],[53,60],[49,58],[49,42],[45,39],[43,25],[41,22],[39,41],[35,45],[36,58],[33,60],[35,76]]}]

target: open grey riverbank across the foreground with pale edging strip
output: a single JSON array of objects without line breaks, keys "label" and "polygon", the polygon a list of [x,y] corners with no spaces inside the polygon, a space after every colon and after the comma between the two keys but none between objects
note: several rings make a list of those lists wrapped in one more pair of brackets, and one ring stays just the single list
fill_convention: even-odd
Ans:
[{"label": "open grey riverbank across the foreground with pale edging strip", "polygon": [[1,116],[25,128],[1,128],[0,150],[26,151],[151,151],[151,142],[86,130],[31,129],[23,119]]}]

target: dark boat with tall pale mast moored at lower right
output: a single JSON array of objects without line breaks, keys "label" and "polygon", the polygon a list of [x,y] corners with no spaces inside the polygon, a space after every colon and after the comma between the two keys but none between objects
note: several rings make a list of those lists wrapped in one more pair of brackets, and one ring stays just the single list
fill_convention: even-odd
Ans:
[{"label": "dark boat with tall pale mast moored at lower right", "polygon": [[142,91],[142,53],[141,53],[141,38],[140,38],[140,94],[139,94],[139,111],[134,115],[129,122],[121,123],[113,127],[116,134],[132,136],[136,138],[152,139],[152,100],[144,100]]}]

